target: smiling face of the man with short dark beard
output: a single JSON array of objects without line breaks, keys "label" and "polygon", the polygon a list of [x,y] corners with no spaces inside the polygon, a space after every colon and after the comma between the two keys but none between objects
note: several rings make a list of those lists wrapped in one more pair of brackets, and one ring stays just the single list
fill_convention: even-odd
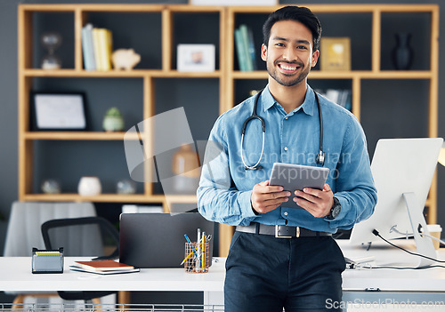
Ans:
[{"label": "smiling face of the man with short dark beard", "polygon": [[[277,83],[293,86],[304,81],[317,64],[320,52],[312,52],[312,32],[295,20],[273,24],[269,44],[261,48],[267,72]],[[270,79],[271,80],[271,79]]]}]

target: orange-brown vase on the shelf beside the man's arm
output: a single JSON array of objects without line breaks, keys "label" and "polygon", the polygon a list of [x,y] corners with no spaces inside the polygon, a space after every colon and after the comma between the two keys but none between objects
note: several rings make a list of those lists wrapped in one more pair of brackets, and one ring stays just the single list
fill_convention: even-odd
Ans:
[{"label": "orange-brown vase on the shelf beside the man's arm", "polygon": [[190,145],[183,144],[174,153],[172,170],[174,172],[174,191],[194,194],[199,183],[199,157]]}]

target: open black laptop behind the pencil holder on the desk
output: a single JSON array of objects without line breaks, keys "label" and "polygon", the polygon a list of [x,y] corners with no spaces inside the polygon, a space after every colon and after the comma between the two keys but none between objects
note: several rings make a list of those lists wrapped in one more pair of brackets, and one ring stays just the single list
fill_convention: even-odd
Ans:
[{"label": "open black laptop behind the pencil holder on the desk", "polygon": [[[198,228],[214,236],[214,222],[198,212],[122,213],[119,230],[119,261],[135,268],[182,268],[184,234],[196,242]],[[212,265],[213,239],[209,241]]]}]

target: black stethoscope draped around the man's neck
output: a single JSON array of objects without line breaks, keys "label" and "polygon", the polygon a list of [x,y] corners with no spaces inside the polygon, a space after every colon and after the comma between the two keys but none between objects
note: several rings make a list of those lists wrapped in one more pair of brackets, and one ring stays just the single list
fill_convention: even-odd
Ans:
[{"label": "black stethoscope draped around the man's neck", "polygon": [[[256,107],[258,106],[258,99],[260,98],[261,92],[263,92],[263,90],[256,94],[254,109],[252,110],[252,115],[248,116],[247,119],[244,121],[242,132],[241,132],[241,160],[244,164],[244,169],[246,169],[246,170],[262,170],[263,169],[263,166],[260,165],[260,162],[263,158],[263,153],[264,153],[264,137],[265,137],[265,133],[266,133],[266,124],[264,123],[263,117],[258,116],[256,114]],[[319,153],[317,154],[316,161],[317,161],[317,164],[321,164],[323,166],[325,164],[325,153],[323,152],[323,116],[321,115],[321,105],[320,105],[319,95],[317,94],[317,92],[313,92],[313,94],[315,95],[315,100],[317,101],[317,105],[319,107],[319,120],[320,120],[320,144],[319,144]],[[248,165],[248,164],[246,164],[246,161],[244,160],[243,142],[244,142],[244,134],[246,133],[247,124],[249,123],[249,121],[251,121],[253,119],[258,119],[261,122],[261,127],[262,127],[262,131],[263,131],[263,145],[261,148],[260,158],[258,159],[256,164]]]}]

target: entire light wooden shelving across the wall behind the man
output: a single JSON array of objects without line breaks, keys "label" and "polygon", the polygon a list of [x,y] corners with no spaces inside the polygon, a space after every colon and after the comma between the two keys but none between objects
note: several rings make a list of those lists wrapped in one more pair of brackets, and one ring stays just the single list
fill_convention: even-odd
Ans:
[{"label": "entire light wooden shelving across the wall behind the man", "polygon": [[[304,5],[304,4],[299,4]],[[428,107],[428,135],[437,136],[438,111],[438,36],[439,36],[439,6],[435,4],[310,4],[307,5],[316,14],[344,14],[367,13],[371,16],[371,66],[368,70],[352,70],[339,72],[323,72],[313,70],[310,80],[317,79],[344,79],[352,86],[352,113],[360,119],[361,92],[364,80],[404,80],[421,79],[429,82]],[[155,115],[157,107],[155,92],[157,78],[214,78],[219,84],[219,113],[238,104],[235,100],[235,90],[239,81],[255,81],[267,79],[265,70],[254,72],[241,72],[237,70],[234,29],[239,16],[252,16],[255,14],[263,18],[264,14],[273,12],[278,7],[214,7],[192,5],[164,5],[164,4],[20,4],[19,5],[19,198],[23,201],[82,201],[93,202],[122,202],[122,203],[159,203],[168,207],[170,203],[195,203],[196,196],[166,196],[155,194],[152,183],[145,183],[142,194],[121,196],[116,194],[102,194],[101,196],[81,197],[77,194],[44,195],[36,193],[32,188],[34,142],[38,140],[62,141],[106,141],[124,140],[124,132],[35,132],[30,128],[30,102],[29,92],[33,90],[36,79],[42,78],[140,78],[143,85],[143,101],[141,103],[142,119]],[[33,16],[36,13],[69,13],[74,17],[74,66],[59,70],[43,70],[33,64]],[[160,37],[162,60],[159,68],[134,69],[131,71],[85,71],[83,68],[81,29],[94,13],[156,13],[160,16]],[[431,43],[429,49],[431,58],[429,68],[425,70],[395,71],[383,70],[382,67],[382,16],[386,13],[427,13],[430,18]],[[212,73],[183,73],[174,68],[174,17],[182,13],[217,14],[219,17],[219,50],[217,52],[218,68]],[[341,20],[341,22],[347,22]],[[133,29],[134,30],[134,29]],[[129,30],[131,31],[131,30]],[[261,31],[260,29],[255,31]],[[259,46],[259,44],[258,44]],[[217,105],[215,103],[215,105]],[[135,136],[134,140],[138,140]],[[149,133],[144,137],[151,142]],[[148,168],[150,171],[150,168]],[[150,174],[150,172],[149,172]],[[436,221],[437,185],[433,180],[428,199],[428,222]],[[166,208],[167,210],[167,208]],[[220,255],[225,255],[229,249],[232,228],[222,226],[220,232]]]}]

